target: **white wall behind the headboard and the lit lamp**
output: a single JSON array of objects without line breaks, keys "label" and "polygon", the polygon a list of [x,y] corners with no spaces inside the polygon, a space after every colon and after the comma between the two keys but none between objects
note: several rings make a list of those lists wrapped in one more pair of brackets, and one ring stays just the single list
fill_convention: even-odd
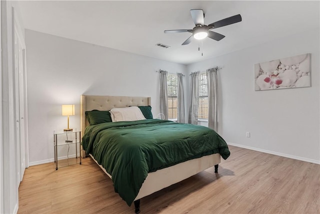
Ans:
[{"label": "white wall behind the headboard and the lit lamp", "polygon": [[159,113],[159,69],[186,66],[25,30],[30,165],[53,160],[53,130],[66,128],[62,104],[75,104],[70,128],[80,130],[80,95],[150,96]]}]

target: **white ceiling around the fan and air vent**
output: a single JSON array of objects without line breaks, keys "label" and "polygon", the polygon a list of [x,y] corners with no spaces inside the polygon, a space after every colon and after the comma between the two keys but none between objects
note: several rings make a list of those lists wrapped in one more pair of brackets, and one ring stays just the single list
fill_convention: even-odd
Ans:
[{"label": "white ceiling around the fan and air vent", "polygon": [[[21,1],[19,5],[26,29],[185,65],[319,28],[319,1]],[[199,52],[201,42],[181,46],[191,33],[163,33],[192,29],[191,9],[203,10],[205,25],[237,14],[242,22],[213,30],[225,38],[204,39]]]}]

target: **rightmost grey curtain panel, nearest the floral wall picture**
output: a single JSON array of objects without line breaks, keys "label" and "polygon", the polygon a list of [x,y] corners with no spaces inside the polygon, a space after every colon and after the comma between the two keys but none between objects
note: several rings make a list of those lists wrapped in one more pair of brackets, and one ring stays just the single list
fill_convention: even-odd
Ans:
[{"label": "rightmost grey curtain panel, nearest the floral wall picture", "polygon": [[208,127],[214,131],[218,131],[217,123],[217,68],[211,68],[206,70],[206,80],[208,88]]}]

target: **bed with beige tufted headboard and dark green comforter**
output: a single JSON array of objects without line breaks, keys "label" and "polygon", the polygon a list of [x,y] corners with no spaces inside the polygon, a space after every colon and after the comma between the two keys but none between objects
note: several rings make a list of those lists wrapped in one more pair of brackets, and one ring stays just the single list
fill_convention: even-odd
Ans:
[{"label": "bed with beige tufted headboard and dark green comforter", "polygon": [[[126,108],[129,106],[138,106],[139,108],[142,108],[150,105],[150,97],[81,95],[80,99],[81,130],[82,133],[84,133],[82,137],[82,157],[89,155],[93,158],[100,168],[112,179],[114,189],[119,193],[122,199],[125,200],[128,205],[131,205],[132,201],[134,202],[135,213],[140,211],[140,198],[212,166],[215,167],[215,172],[217,173],[221,155],[222,158],[226,159],[230,154],[225,141],[213,130],[203,126],[179,124],[159,119],[106,122],[90,125],[85,116],[86,112],[92,113],[93,110],[100,111],[100,114],[101,112],[109,111],[114,108]],[[185,129],[188,131],[185,131]],[[198,129],[199,132],[205,132],[205,134],[201,135],[203,139],[208,139],[205,140],[206,142],[213,141],[211,139],[214,138],[214,141],[216,141],[214,142],[216,144],[214,148],[207,149],[210,145],[206,145],[206,143],[203,143],[203,145],[202,143],[195,144],[195,141],[197,140],[195,140],[195,138],[193,140],[193,137],[195,137]],[[165,134],[159,134],[161,130],[164,131]],[[173,130],[176,131],[173,132]],[[183,130],[184,133],[189,133],[188,137],[181,135]],[[215,133],[214,136],[211,131]],[[177,138],[175,136],[179,136],[178,132],[181,135],[178,138],[179,141],[175,139]],[[115,136],[116,134],[117,136]],[[175,145],[173,142],[166,141],[166,144],[164,144],[161,139],[159,140],[161,141],[161,144],[154,144],[153,153],[149,150],[146,151],[143,146],[147,145],[146,147],[150,147],[149,142],[158,141],[158,138],[161,138],[161,135],[166,136],[165,140],[172,139],[174,143],[179,142],[179,144]],[[117,140],[116,143],[113,142],[113,139]],[[138,140],[134,141],[133,139]],[[136,141],[138,141],[138,143],[135,143]],[[182,143],[182,141],[186,143]],[[122,146],[124,143],[127,143],[125,144],[125,147]],[[120,148],[114,148],[115,144]],[[141,147],[136,147],[135,144],[139,144]],[[163,151],[163,149],[166,148],[164,148],[164,146],[159,146],[175,145],[175,147],[180,147],[182,144],[187,144],[188,146],[188,148],[183,149],[183,152],[180,150],[178,151],[181,154],[183,153],[183,155],[184,153],[188,155],[188,157],[183,157],[184,159],[182,157],[181,159],[178,159],[178,157],[181,156],[180,153],[167,158],[167,153]],[[191,148],[191,144],[201,146],[193,149]],[[201,154],[192,154],[193,150],[200,150],[202,147],[203,149],[205,148],[205,151],[201,151]],[[168,148],[168,151],[173,151],[174,149]],[[140,153],[140,151],[142,152]],[[163,153],[164,155],[161,156],[160,153]],[[118,157],[124,159],[117,160]],[[169,161],[173,162],[165,162],[165,164],[161,162],[167,161],[167,159],[170,159]],[[119,164],[119,161],[121,164]],[[135,163],[139,163],[140,165],[137,166]],[[120,171],[116,167],[122,168],[122,170]]]}]

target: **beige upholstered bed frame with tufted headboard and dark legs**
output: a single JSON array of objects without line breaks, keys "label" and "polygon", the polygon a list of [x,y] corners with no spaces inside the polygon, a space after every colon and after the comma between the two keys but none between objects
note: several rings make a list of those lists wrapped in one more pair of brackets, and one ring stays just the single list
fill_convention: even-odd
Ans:
[{"label": "beige upholstered bed frame with tufted headboard and dark legs", "polygon": [[[150,97],[81,95],[81,131],[84,134],[85,127],[89,125],[88,121],[85,119],[85,111],[91,111],[94,109],[107,111],[111,110],[112,108],[147,105],[151,106]],[[82,150],[81,155],[82,157],[85,157],[85,151]],[[92,157],[92,155],[90,156]],[[92,157],[92,159],[96,162],[94,157]],[[164,169],[159,169],[155,172],[148,173],[139,190],[138,195],[134,199],[135,213],[140,212],[140,198],[152,194],[153,192],[156,192],[181,180],[184,180],[212,166],[214,166],[214,172],[217,173],[219,163],[220,154],[217,153],[196,159],[191,159]],[[99,166],[111,178],[111,175],[108,174],[101,165]]]}]

